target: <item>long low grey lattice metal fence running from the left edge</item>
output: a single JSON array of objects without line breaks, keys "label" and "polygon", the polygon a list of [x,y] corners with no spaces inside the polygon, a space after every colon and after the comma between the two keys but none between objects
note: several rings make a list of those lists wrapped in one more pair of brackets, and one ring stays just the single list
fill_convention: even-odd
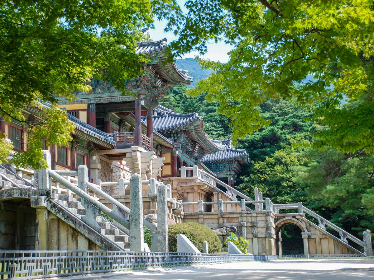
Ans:
[{"label": "long low grey lattice metal fence running from the left edge", "polygon": [[268,255],[123,251],[0,251],[0,279],[37,279],[147,267],[277,259]]}]

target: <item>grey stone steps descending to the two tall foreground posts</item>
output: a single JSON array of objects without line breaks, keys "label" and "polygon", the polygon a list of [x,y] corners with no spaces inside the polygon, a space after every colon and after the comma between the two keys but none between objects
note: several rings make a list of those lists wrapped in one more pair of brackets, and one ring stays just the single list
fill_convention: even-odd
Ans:
[{"label": "grey stone steps descending to the two tall foreground posts", "polygon": [[[82,217],[86,215],[86,209],[80,202],[80,198],[74,198],[73,195],[60,194],[56,195],[58,198],[53,199],[54,202],[64,207],[67,211],[74,214],[77,218],[82,220]],[[122,248],[124,251],[129,251],[130,242],[129,236],[113,225],[110,221],[104,217],[96,217],[96,221],[100,226],[100,234],[106,237],[111,242]]]}]

